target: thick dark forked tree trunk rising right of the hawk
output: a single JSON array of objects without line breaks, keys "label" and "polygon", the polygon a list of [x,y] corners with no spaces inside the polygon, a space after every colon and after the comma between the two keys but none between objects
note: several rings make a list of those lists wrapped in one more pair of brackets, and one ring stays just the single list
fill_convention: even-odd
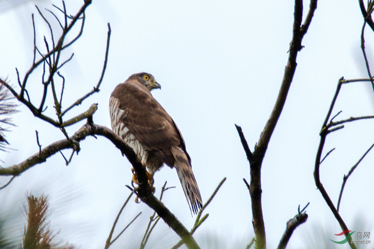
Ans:
[{"label": "thick dark forked tree trunk rising right of the hawk", "polygon": [[296,70],[297,54],[303,48],[301,41],[304,35],[307,33],[316,8],[317,0],[311,0],[307,17],[304,24],[301,25],[301,22],[303,21],[303,1],[295,0],[292,40],[289,47],[289,56],[283,75],[281,88],[279,89],[278,98],[273,107],[272,113],[270,114],[269,120],[267,121],[263,132],[261,132],[260,139],[255,146],[253,154],[250,153],[248,145],[246,145],[245,140],[243,140],[244,135],[241,134],[241,130],[239,130],[238,126],[236,126],[250,164],[251,183],[249,185],[249,192],[251,195],[253,225],[256,237],[255,247],[257,249],[266,248],[265,225],[261,204],[261,165],[269,145],[270,138],[286,102],[289,87],[291,86],[291,82]]}]

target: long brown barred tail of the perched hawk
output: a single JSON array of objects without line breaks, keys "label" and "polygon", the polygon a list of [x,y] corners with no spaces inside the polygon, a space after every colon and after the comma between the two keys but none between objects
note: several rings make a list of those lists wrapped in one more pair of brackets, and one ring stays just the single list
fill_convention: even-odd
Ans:
[{"label": "long brown barred tail of the perched hawk", "polygon": [[202,200],[190,162],[181,148],[172,147],[171,151],[175,159],[174,167],[177,169],[178,177],[188,205],[190,206],[190,210],[192,207],[192,212],[197,214],[199,209],[202,207]]}]

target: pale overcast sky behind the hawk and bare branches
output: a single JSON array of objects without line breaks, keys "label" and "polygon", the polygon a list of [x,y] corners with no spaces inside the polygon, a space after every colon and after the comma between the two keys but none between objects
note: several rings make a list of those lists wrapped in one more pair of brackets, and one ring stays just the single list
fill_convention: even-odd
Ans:
[{"label": "pale overcast sky behind the hawk and bare branches", "polygon": [[[35,13],[38,44],[44,48],[43,35],[50,37],[34,4],[52,20],[54,28],[59,28],[44,10],[53,9],[52,3],[62,5],[60,1],[19,1],[13,5],[0,1],[0,77],[8,77],[14,86],[15,67],[22,76],[32,62],[31,13]],[[67,0],[68,12],[75,14],[82,3]],[[309,2],[304,1],[305,14],[308,6]],[[250,179],[249,164],[234,124],[242,126],[250,148],[254,148],[283,77],[293,11],[294,2],[290,0],[94,0],[86,12],[82,37],[65,51],[64,58],[74,52],[71,62],[61,70],[66,79],[63,104],[67,107],[96,85],[110,22],[112,36],[101,91],[70,115],[98,103],[93,120],[110,127],[108,100],[114,87],[133,73],[151,73],[162,85],[162,90],[152,92],[153,96],[183,134],[204,202],[227,177],[206,210],[209,218],[194,235],[203,248],[207,237],[218,236],[226,243],[222,248],[245,248],[253,237],[250,197],[242,181]],[[319,130],[338,79],[367,77],[360,48],[362,21],[357,1],[319,1],[304,36],[305,47],[298,54],[288,99],[263,162],[262,204],[268,248],[278,245],[298,205],[303,207],[308,202],[308,221],[294,232],[288,248],[315,248],[319,241],[339,239],[333,234],[341,229],[316,189],[313,170]],[[71,34],[67,39],[73,37]],[[366,41],[369,59],[374,62],[374,36],[369,28]],[[42,87],[40,73],[37,71],[28,82],[31,98],[37,103]],[[372,115],[373,101],[370,83],[344,85],[333,113],[343,110],[340,119]],[[48,105],[46,113],[53,115],[52,102]],[[37,152],[35,130],[43,146],[64,138],[58,129],[33,117],[25,107],[19,106],[19,110],[13,117],[17,127],[6,133],[10,147],[16,151],[0,154],[2,166],[19,163]],[[69,127],[69,134],[83,124]],[[321,181],[335,205],[343,175],[374,142],[372,126],[373,121],[359,121],[328,136],[325,153],[334,147],[336,150],[321,166]],[[27,191],[49,194],[54,210],[51,225],[59,231],[59,237],[80,248],[103,248],[129,194],[125,185],[131,181],[131,165],[105,138],[89,137],[80,146],[79,156],[75,155],[69,166],[56,154],[22,173],[0,191],[0,206],[5,213],[17,213],[21,212]],[[64,154],[68,156],[69,152]],[[353,231],[373,231],[373,160],[371,152],[350,176],[344,190],[340,213]],[[154,179],[157,196],[166,180],[168,186],[177,187],[165,193],[163,202],[190,229],[195,217],[191,218],[175,170],[164,167]],[[0,184],[6,181],[0,178]],[[120,230],[140,211],[141,218],[111,248],[132,248],[140,243],[152,213],[144,203],[131,201],[118,227]],[[366,223],[361,222],[359,227],[357,219]],[[24,220],[17,222],[12,224],[15,234],[23,230]],[[314,236],[315,244],[309,239],[313,234],[320,236]],[[165,243],[165,248],[179,240],[174,231],[159,222],[147,248],[152,248],[160,237],[159,243]]]}]

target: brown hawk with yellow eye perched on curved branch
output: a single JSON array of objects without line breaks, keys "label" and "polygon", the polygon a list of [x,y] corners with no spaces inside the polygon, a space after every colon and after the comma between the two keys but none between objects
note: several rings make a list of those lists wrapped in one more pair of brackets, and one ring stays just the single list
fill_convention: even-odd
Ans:
[{"label": "brown hawk with yellow eye perched on curved branch", "polygon": [[164,163],[177,169],[188,205],[197,213],[202,200],[191,158],[174,120],[152,96],[156,88],[160,84],[148,73],[133,74],[116,86],[109,100],[111,126],[152,176]]}]

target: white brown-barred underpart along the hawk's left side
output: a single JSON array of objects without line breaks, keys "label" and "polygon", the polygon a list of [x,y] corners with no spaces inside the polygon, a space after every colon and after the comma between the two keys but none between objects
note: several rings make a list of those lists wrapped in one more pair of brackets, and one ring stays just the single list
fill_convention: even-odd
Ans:
[{"label": "white brown-barred underpart along the hawk's left side", "polygon": [[148,159],[148,153],[141,145],[139,140],[135,138],[134,134],[129,132],[129,129],[125,126],[121,120],[126,117],[127,113],[119,108],[119,99],[110,97],[109,100],[109,114],[112,130],[126,142],[126,144],[132,148],[132,150],[137,154],[141,163],[146,165]]}]

